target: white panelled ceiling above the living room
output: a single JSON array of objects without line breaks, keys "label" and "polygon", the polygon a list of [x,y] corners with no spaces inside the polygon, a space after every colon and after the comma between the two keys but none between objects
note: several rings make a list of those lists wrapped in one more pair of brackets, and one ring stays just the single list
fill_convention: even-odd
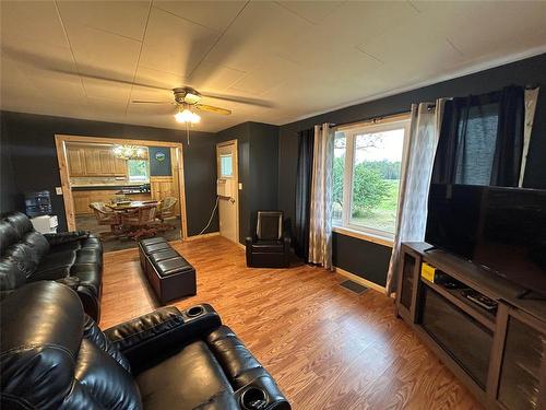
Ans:
[{"label": "white panelled ceiling above the living room", "polygon": [[[166,90],[215,98],[217,131],[282,125],[545,51],[546,1],[2,1],[1,108],[181,128]],[[102,80],[109,78],[115,81]],[[201,114],[201,113],[200,113]]]}]

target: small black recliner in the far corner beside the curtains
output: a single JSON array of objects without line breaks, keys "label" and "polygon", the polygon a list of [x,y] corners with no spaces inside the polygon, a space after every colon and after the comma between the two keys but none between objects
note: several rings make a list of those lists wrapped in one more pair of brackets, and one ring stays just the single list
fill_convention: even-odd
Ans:
[{"label": "small black recliner in the far corner beside the curtains", "polygon": [[287,268],[290,266],[290,230],[282,211],[258,211],[256,234],[247,237],[247,266]]}]

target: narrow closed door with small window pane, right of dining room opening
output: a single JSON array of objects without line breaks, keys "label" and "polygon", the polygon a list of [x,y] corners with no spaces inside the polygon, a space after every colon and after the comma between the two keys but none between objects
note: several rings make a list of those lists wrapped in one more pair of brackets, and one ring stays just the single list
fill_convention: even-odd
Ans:
[{"label": "narrow closed door with small window pane, right of dining room opening", "polygon": [[219,234],[239,242],[237,140],[216,145]]}]

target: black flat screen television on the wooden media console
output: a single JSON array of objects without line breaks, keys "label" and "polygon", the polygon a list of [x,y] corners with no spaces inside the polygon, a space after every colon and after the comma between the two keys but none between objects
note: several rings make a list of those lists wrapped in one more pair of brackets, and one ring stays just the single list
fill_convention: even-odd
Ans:
[{"label": "black flat screen television on the wooden media console", "polygon": [[546,296],[546,190],[432,184],[425,241]]}]

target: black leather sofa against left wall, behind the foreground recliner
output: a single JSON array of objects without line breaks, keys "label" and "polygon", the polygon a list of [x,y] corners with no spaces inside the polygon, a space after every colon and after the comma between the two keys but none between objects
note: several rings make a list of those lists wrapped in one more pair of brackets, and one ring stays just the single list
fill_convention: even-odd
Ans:
[{"label": "black leather sofa against left wall, behind the foreground recliner", "polygon": [[21,212],[0,220],[0,297],[28,282],[54,280],[74,289],[87,315],[100,317],[103,245],[86,231],[43,235]]}]

